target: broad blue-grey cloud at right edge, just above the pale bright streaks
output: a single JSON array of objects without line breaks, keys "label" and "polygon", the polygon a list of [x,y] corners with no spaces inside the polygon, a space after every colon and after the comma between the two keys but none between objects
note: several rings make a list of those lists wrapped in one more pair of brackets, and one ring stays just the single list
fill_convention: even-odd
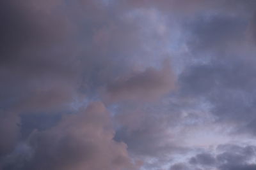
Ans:
[{"label": "broad blue-grey cloud at right edge, just above the pale bright streaks", "polygon": [[253,129],[254,63],[253,59],[224,57],[192,66],[181,76],[183,92],[189,96],[207,97],[218,120],[246,124]]}]

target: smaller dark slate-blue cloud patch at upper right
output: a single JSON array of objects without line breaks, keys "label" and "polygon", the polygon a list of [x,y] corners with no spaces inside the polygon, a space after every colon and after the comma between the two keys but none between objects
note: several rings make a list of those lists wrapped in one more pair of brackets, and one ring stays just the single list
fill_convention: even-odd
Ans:
[{"label": "smaller dark slate-blue cloud patch at upper right", "polygon": [[193,18],[193,22],[185,25],[191,29],[190,48],[195,53],[211,52],[212,48],[212,52],[223,52],[232,48],[232,44],[244,39],[246,34],[249,21],[242,17],[205,14]]}]

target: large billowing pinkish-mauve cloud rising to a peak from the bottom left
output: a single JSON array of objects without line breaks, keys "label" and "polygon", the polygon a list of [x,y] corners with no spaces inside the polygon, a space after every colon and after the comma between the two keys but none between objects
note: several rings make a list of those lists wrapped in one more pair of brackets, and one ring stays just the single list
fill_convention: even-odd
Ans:
[{"label": "large billowing pinkish-mauve cloud rising to a peak from the bottom left", "polygon": [[[113,140],[115,132],[104,104],[66,115],[45,131],[29,136],[31,157],[10,169],[134,169],[125,143]],[[21,155],[24,157],[24,155]],[[100,164],[99,164],[100,162]]]}]

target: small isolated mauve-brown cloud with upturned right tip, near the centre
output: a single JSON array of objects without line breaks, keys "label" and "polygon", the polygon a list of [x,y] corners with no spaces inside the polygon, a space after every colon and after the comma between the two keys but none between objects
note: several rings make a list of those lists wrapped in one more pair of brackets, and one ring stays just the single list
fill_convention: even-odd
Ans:
[{"label": "small isolated mauve-brown cloud with upturned right tip, near the centre", "polygon": [[107,96],[111,101],[125,99],[158,98],[175,87],[175,78],[166,62],[160,70],[148,68],[143,72],[119,78],[106,87]]}]

